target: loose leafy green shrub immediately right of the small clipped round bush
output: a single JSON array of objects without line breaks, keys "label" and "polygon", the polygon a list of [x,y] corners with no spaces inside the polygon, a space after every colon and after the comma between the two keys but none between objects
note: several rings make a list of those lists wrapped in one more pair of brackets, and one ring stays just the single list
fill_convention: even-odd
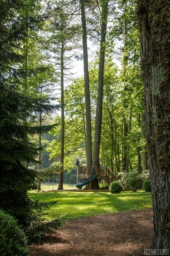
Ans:
[{"label": "loose leafy green shrub immediately right of the small clipped round bush", "polygon": [[135,192],[141,184],[142,176],[138,171],[131,171],[126,174],[126,185],[127,187],[133,188]]}]

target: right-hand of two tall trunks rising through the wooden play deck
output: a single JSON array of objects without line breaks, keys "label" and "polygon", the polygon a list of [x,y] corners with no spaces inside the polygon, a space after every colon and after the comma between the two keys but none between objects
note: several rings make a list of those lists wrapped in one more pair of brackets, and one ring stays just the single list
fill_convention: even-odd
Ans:
[{"label": "right-hand of two tall trunks rising through the wooden play deck", "polygon": [[[92,166],[98,166],[100,153],[100,138],[102,126],[102,109],[103,109],[103,78],[104,78],[104,62],[105,62],[105,42],[108,16],[108,0],[102,0],[102,24],[101,24],[101,42],[100,42],[100,58],[99,58],[99,78],[98,78],[98,95],[95,117],[95,134],[94,134],[94,149]],[[92,173],[95,174],[95,168],[92,168]],[[98,188],[98,183],[95,180],[92,188]]]}]

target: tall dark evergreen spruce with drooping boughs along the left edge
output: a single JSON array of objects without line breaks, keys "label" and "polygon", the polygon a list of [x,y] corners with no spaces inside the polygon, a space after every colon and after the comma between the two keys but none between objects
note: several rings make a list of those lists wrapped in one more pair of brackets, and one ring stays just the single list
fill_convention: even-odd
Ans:
[{"label": "tall dark evergreen spruce with drooping boughs along the left edge", "polygon": [[63,221],[59,218],[47,222],[42,218],[43,211],[56,202],[41,204],[27,195],[29,190],[37,188],[38,175],[36,171],[25,168],[25,162],[38,163],[37,152],[41,150],[30,138],[55,126],[36,126],[40,113],[58,109],[58,106],[51,105],[50,98],[37,93],[27,95],[22,90],[25,82],[40,71],[37,67],[27,69],[23,62],[27,32],[37,29],[40,18],[38,11],[37,15],[29,17],[28,22],[27,8],[32,9],[33,2],[37,5],[37,1],[27,1],[28,5],[22,1],[0,1],[3,35],[0,46],[3,45],[0,55],[0,205],[18,220],[29,240],[58,228]]}]

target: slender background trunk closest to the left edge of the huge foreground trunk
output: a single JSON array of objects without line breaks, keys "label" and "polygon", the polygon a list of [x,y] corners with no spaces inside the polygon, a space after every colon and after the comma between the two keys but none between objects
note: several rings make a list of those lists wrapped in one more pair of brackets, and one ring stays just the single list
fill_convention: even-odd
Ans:
[{"label": "slender background trunk closest to the left edge of the huge foreground trunk", "polygon": [[[145,139],[145,116],[144,112],[141,113],[141,135]],[[142,170],[148,170],[148,159],[147,159],[147,149],[146,145],[142,145]]]}]

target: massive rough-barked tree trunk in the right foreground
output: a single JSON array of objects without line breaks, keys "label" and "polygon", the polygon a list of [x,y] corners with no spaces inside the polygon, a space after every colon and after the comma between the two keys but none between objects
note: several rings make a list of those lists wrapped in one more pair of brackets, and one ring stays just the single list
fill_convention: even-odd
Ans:
[{"label": "massive rough-barked tree trunk in the right foreground", "polygon": [[170,2],[138,0],[154,213],[152,248],[170,248]]}]

